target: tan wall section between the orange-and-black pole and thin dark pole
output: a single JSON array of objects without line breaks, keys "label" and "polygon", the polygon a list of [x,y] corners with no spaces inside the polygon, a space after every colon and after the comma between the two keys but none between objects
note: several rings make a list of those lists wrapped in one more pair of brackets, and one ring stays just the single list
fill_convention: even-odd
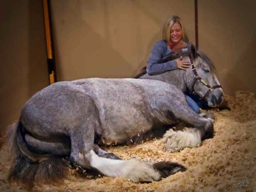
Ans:
[{"label": "tan wall section between the orange-and-black pole and thin dark pole", "polygon": [[59,81],[135,76],[172,14],[195,39],[193,0],[55,0],[51,8]]}]

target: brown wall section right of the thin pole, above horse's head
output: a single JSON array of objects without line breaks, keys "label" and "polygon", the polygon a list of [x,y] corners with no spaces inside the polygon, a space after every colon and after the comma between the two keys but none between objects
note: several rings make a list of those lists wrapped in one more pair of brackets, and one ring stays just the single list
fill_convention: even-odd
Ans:
[{"label": "brown wall section right of the thin pole, above horse's head", "polygon": [[255,93],[255,1],[198,0],[198,23],[199,49],[216,64],[225,93]]}]

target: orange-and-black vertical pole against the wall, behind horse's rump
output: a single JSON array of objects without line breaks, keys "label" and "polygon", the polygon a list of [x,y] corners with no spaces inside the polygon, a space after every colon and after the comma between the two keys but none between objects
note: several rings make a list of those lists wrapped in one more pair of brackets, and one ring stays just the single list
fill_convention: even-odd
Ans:
[{"label": "orange-and-black vertical pole against the wall, behind horse's rump", "polygon": [[47,47],[47,62],[48,62],[48,73],[49,73],[49,84],[57,82],[56,66],[54,59],[54,46],[52,43],[52,26],[51,26],[51,11],[50,1],[43,0],[43,17],[45,19],[45,37]]}]

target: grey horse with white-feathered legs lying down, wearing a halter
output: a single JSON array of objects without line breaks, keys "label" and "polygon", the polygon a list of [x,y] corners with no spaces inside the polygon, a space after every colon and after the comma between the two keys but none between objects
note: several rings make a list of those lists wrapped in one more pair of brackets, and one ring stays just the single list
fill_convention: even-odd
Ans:
[{"label": "grey horse with white-feathered legs lying down, wearing a halter", "polygon": [[124,161],[101,146],[142,142],[160,133],[158,130],[166,132],[166,127],[181,122],[190,129],[168,130],[163,139],[168,151],[193,148],[213,137],[213,121],[193,112],[183,92],[193,91],[217,107],[224,100],[223,89],[210,59],[193,45],[188,49],[183,59],[190,59],[192,64],[186,71],[63,81],[37,92],[9,129],[12,160],[8,181],[27,187],[58,181],[65,177],[69,162],[133,182],[160,181],[185,171],[183,165],[170,161]]}]

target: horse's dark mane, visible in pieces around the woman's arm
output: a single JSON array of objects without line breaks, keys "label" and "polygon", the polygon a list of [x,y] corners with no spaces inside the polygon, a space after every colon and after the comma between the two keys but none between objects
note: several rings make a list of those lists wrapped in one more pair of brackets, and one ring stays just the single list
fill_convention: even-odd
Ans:
[{"label": "horse's dark mane, visible in pieces around the woman's arm", "polygon": [[[193,49],[194,50],[194,54],[193,55],[193,58],[196,58],[196,57],[201,57],[202,60],[205,61],[205,63],[207,63],[207,65],[209,66],[209,68],[211,69],[211,71],[215,72],[216,71],[216,68],[214,66],[214,63],[212,62],[212,60],[207,56],[205,55],[204,52],[201,52],[199,50],[196,50],[195,46],[193,44],[191,44],[191,47],[190,49]],[[193,52],[192,52],[193,53]],[[167,55],[166,57],[164,57],[163,59],[160,59],[160,61],[158,63],[165,63],[165,62],[168,62],[169,60],[174,60],[174,59],[177,59],[180,57],[180,53],[170,53],[169,55]],[[138,79],[140,78],[142,75],[145,75],[146,74],[146,66],[143,67],[141,69],[141,72],[138,73],[138,75],[135,76],[135,79]]]}]

